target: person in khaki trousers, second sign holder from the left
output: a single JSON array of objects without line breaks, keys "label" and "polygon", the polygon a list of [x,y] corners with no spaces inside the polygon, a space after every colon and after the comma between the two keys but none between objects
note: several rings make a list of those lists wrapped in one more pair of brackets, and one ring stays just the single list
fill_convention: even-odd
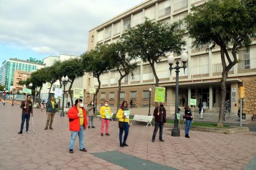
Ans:
[{"label": "person in khaki trousers, second sign holder from the left", "polygon": [[48,129],[48,126],[49,126],[49,129],[53,130],[53,118],[55,116],[57,107],[58,107],[58,104],[54,101],[54,97],[52,96],[51,101],[48,102],[46,106],[46,113],[48,113],[48,116],[47,116],[45,130]]}]

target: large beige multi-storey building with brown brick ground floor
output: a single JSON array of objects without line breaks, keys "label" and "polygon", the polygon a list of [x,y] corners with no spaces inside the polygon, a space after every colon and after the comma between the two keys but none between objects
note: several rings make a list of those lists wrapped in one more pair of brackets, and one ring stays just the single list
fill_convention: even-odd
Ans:
[{"label": "large beige multi-storey building with brown brick ground floor", "polygon": [[[105,44],[117,41],[122,33],[139,23],[143,23],[145,17],[152,21],[164,21],[168,23],[176,22],[186,17],[190,13],[191,7],[200,6],[204,0],[148,0],[138,6],[111,18],[110,20],[96,26],[89,31],[88,50],[93,49],[96,44]],[[185,28],[185,25],[179,25]],[[220,80],[221,80],[221,57],[220,48],[216,47],[212,51],[206,52],[205,48],[198,51],[192,49],[192,39],[184,34],[187,41],[186,52],[189,55],[185,72],[179,73],[179,99],[185,97],[186,103],[190,99],[200,99],[207,102],[208,108],[220,107]],[[175,56],[175,55],[174,55]],[[231,55],[232,56],[232,55]],[[231,111],[237,113],[239,108],[239,87],[245,87],[244,113],[256,113],[256,41],[254,39],[249,50],[242,49],[238,54],[241,61],[229,71],[227,80],[228,92],[226,99],[231,101]],[[180,56],[176,55],[176,60]],[[137,107],[148,106],[148,89],[153,89],[151,99],[154,97],[155,79],[148,63],[137,60],[138,68],[134,78],[127,76],[122,80],[122,100],[133,100]],[[160,86],[166,87],[166,104],[168,110],[174,110],[176,74],[170,74],[167,60],[162,60],[155,65],[157,75],[160,78]],[[119,74],[109,71],[101,76],[101,89],[98,94],[98,103],[109,100],[111,105],[117,103],[117,79]],[[90,87],[97,87],[95,78],[88,78]],[[87,94],[88,99],[90,94]],[[151,100],[153,104],[153,100]],[[249,116],[248,116],[249,117]]]}]

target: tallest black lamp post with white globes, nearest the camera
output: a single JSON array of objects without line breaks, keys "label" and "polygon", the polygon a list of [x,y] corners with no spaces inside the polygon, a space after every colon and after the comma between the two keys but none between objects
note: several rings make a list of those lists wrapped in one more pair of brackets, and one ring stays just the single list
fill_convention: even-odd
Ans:
[{"label": "tallest black lamp post with white globes, nearest the camera", "polygon": [[183,63],[182,67],[179,67],[179,61],[178,60],[176,61],[176,67],[173,67],[174,57],[173,57],[172,54],[167,59],[169,65],[170,65],[170,67],[169,67],[170,73],[171,73],[171,70],[174,70],[174,69],[175,69],[175,72],[176,72],[176,94],[175,94],[175,113],[174,113],[175,119],[174,119],[174,127],[171,131],[171,136],[180,136],[180,131],[179,131],[179,128],[178,128],[178,121],[177,121],[177,114],[176,114],[176,113],[178,113],[179,69],[184,68],[184,73],[185,73],[187,58],[188,58],[187,53],[182,52],[182,54],[181,54],[181,61]]}]

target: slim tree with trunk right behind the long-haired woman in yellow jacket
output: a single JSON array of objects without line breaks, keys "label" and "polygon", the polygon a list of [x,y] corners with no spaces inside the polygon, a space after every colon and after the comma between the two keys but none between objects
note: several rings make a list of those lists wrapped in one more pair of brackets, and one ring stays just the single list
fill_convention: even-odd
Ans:
[{"label": "slim tree with trunk right behind the long-haired woman in yellow jacket", "polygon": [[137,63],[132,63],[133,57],[127,55],[127,47],[122,42],[115,42],[108,46],[105,57],[108,57],[111,69],[116,70],[120,78],[118,79],[117,106],[119,110],[121,81],[128,75],[133,76],[133,71],[137,68]]}]

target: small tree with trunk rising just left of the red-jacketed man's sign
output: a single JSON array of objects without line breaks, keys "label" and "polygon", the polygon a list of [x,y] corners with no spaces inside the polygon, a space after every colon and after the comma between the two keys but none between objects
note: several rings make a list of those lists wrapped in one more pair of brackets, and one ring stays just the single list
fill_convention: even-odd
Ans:
[{"label": "small tree with trunk rising just left of the red-jacketed man's sign", "polygon": [[[69,77],[69,95],[71,99],[71,105],[73,105],[73,98],[71,94],[71,88],[75,79],[80,78],[85,73],[85,67],[83,67],[81,58],[74,58],[69,60],[64,60],[61,63],[58,63],[59,68],[56,70],[56,74],[67,75]],[[59,71],[61,70],[61,71]]]}]

